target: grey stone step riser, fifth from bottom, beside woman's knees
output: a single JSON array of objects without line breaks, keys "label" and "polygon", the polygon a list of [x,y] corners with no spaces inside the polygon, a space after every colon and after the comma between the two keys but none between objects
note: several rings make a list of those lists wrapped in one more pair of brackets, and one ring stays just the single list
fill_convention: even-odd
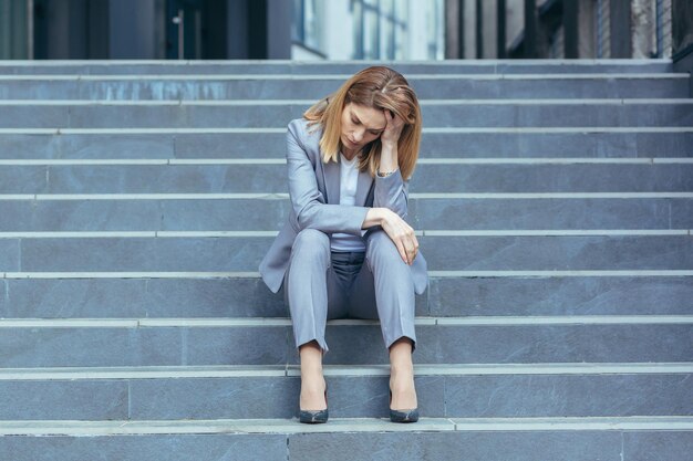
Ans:
[{"label": "grey stone step riser, fifth from bottom, beside woman's knees", "polygon": [[[1,272],[257,271],[272,237],[0,239]],[[430,271],[691,270],[691,237],[421,237]],[[50,254],[51,258],[45,258]],[[461,274],[462,275],[462,274]]]}]

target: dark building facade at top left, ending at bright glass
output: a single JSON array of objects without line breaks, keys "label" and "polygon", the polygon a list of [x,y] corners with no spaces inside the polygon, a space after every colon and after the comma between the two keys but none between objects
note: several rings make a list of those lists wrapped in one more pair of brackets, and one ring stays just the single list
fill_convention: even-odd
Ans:
[{"label": "dark building facade at top left, ending at bright glass", "polygon": [[0,0],[0,59],[289,59],[290,0]]}]

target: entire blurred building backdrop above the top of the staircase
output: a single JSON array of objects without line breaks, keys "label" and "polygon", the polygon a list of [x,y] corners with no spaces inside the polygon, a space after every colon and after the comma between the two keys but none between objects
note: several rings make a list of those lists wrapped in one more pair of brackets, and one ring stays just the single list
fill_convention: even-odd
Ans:
[{"label": "entire blurred building backdrop above the top of the staircase", "polygon": [[690,0],[0,0],[0,59],[675,57]]}]

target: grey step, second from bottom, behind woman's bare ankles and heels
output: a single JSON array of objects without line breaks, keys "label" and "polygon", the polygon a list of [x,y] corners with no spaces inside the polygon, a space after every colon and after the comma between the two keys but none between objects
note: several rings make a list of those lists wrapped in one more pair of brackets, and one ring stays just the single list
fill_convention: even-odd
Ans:
[{"label": "grey step, second from bottom, behind woman's bare ankles and heels", "polygon": [[[427,418],[693,416],[693,391],[685,383],[692,371],[690,363],[423,366],[415,380],[420,410]],[[18,373],[3,371],[7,376],[0,379],[3,420],[249,419],[298,413],[298,367],[226,371],[186,367],[180,373],[48,369],[38,370],[35,379],[13,378]],[[186,377],[190,374],[196,377]],[[325,366],[325,378],[332,417],[387,416],[387,366]],[[586,395],[590,398],[582,398]],[[0,432],[1,428],[0,422]]]}]

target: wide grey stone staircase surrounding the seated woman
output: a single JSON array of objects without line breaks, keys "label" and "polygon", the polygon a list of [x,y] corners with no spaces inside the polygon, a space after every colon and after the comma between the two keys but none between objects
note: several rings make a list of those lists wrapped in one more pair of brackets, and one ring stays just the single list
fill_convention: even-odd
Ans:
[{"label": "wide grey stone staircase surrounding the seated woman", "polygon": [[297,422],[256,271],[288,121],[365,65],[0,62],[0,459],[693,452],[693,99],[669,61],[392,64],[425,121],[424,418],[383,419],[379,326],[339,321],[332,418]]}]

